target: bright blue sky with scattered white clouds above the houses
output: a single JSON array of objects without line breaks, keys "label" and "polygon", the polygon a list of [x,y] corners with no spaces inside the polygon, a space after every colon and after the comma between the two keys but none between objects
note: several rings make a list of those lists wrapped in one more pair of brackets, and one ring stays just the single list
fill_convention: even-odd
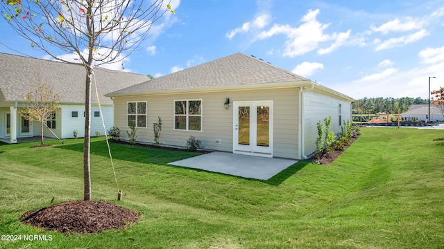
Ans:
[{"label": "bright blue sky with scattered white clouds above the houses", "polygon": [[[124,62],[126,71],[160,77],[241,52],[355,99],[428,98],[429,76],[436,76],[432,89],[444,86],[443,0],[172,0],[171,6],[176,15],[155,23]],[[6,21],[0,30],[0,52],[46,58]]]}]

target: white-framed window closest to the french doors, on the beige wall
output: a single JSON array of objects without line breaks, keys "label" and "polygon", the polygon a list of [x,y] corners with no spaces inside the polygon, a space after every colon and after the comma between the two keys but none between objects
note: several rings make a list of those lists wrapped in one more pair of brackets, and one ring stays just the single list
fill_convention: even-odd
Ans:
[{"label": "white-framed window closest to the french doors, on the beige wall", "polygon": [[174,129],[202,131],[202,100],[174,100]]}]

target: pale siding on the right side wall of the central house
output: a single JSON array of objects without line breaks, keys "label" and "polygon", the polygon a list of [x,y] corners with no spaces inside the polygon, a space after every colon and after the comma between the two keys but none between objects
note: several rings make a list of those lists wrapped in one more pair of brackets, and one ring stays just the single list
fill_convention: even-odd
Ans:
[{"label": "pale siding on the right side wall of the central house", "polygon": [[[341,131],[339,126],[339,104],[342,109],[342,120],[352,120],[351,102],[333,98],[321,93],[309,91],[305,93],[305,156],[309,156],[316,149],[316,138],[318,137],[317,124],[319,121],[324,124],[324,119],[332,116],[330,131],[337,133]],[[324,126],[325,128],[325,126]]]}]

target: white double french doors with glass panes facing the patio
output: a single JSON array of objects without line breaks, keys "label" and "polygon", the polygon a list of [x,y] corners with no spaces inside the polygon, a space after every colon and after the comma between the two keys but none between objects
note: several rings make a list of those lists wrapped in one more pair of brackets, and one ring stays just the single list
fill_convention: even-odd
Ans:
[{"label": "white double french doors with glass panes facing the patio", "polygon": [[234,102],[233,152],[273,157],[273,102]]}]

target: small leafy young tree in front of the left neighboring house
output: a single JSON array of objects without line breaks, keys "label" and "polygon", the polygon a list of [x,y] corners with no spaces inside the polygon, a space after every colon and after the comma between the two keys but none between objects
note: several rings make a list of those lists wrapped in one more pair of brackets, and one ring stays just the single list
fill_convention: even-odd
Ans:
[{"label": "small leafy young tree in front of the left neighboring house", "polygon": [[20,110],[20,114],[27,120],[40,122],[42,145],[44,122],[57,110],[59,100],[60,96],[42,82],[39,82],[33,91],[26,94],[25,107]]}]

